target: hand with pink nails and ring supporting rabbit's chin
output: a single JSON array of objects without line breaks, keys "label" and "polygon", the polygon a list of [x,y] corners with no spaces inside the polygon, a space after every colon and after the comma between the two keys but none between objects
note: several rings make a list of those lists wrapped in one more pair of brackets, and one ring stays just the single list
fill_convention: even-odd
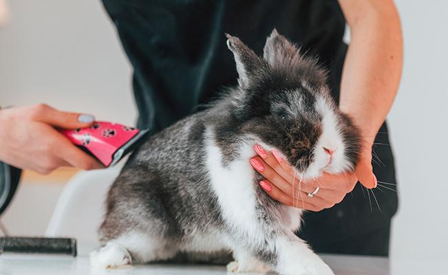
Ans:
[{"label": "hand with pink nails and ring supporting rabbit's chin", "polygon": [[[258,144],[254,148],[258,156],[250,159],[250,164],[264,176],[259,185],[270,197],[287,206],[321,211],[340,203],[358,181],[367,188],[376,187],[371,163],[372,146],[364,146],[354,172],[337,175],[323,173],[317,179],[302,182],[277,151],[268,152]],[[312,193],[317,187],[320,188],[317,194],[308,197],[308,193]]]}]

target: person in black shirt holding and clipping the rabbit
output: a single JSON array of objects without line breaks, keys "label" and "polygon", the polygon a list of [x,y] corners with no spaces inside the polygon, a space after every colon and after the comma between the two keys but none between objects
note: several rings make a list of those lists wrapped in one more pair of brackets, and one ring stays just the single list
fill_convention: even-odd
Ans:
[{"label": "person in black shirt holding and clipping the rabbit", "polygon": [[[319,196],[326,203],[307,208],[312,212],[306,213],[299,234],[317,252],[388,254],[396,193],[374,192],[380,211],[379,207],[371,208],[372,201],[367,200],[372,190],[364,190],[356,182],[367,188],[376,187],[376,178],[396,182],[385,117],[398,89],[403,53],[401,26],[392,1],[103,0],[103,3],[134,67],[134,95],[140,112],[138,127],[148,128],[152,133],[200,111],[201,106],[217,97],[221,87],[236,84],[235,63],[226,49],[224,33],[239,37],[260,54],[266,37],[276,28],[307,54],[318,56],[319,63],[329,70],[334,100],[361,128],[364,144],[355,173],[323,175],[319,179]],[[352,34],[349,47],[343,43],[346,23]],[[14,123],[18,121],[21,125]],[[98,168],[98,163],[52,129],[52,126],[89,126],[92,121],[89,115],[64,113],[45,105],[0,110],[0,125],[10,127],[8,135],[0,133],[0,160],[41,173],[58,166]],[[50,151],[30,140],[32,143],[28,143],[20,133],[31,129],[43,140],[56,144],[56,148]],[[30,153],[39,153],[40,160]],[[264,175],[270,184],[290,184],[278,162],[270,165],[277,169]],[[8,167],[3,164],[3,175],[10,174]],[[349,192],[351,195],[345,196]],[[288,204],[291,197],[285,192],[273,198]],[[300,202],[294,204],[300,206]]]}]

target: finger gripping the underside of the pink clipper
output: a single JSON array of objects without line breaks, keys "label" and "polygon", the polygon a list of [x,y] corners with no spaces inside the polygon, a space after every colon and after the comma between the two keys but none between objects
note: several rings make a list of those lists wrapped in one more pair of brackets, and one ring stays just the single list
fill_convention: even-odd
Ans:
[{"label": "finger gripping the underside of the pink clipper", "polygon": [[81,151],[62,135],[55,142],[54,150],[58,157],[61,157],[61,159],[73,167],[83,170],[104,168],[94,157]]}]

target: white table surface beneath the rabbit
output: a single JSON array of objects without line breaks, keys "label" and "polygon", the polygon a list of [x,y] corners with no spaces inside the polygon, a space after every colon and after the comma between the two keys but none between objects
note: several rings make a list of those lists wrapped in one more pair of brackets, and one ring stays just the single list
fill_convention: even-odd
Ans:
[{"label": "white table surface beneath the rabbit", "polygon": [[[389,261],[382,257],[323,255],[337,275],[388,275]],[[86,256],[0,255],[0,275],[222,275],[224,266],[135,265],[121,270],[94,270]]]}]

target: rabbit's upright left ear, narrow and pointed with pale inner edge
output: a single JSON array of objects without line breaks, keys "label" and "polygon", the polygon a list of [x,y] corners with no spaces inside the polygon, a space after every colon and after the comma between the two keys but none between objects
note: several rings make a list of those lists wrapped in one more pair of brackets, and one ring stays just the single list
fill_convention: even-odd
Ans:
[{"label": "rabbit's upright left ear, narrow and pointed with pale inner edge", "polygon": [[233,52],[235,63],[237,63],[239,86],[247,88],[250,85],[250,79],[257,74],[257,70],[264,67],[264,61],[244,45],[237,37],[226,34],[228,50]]}]

